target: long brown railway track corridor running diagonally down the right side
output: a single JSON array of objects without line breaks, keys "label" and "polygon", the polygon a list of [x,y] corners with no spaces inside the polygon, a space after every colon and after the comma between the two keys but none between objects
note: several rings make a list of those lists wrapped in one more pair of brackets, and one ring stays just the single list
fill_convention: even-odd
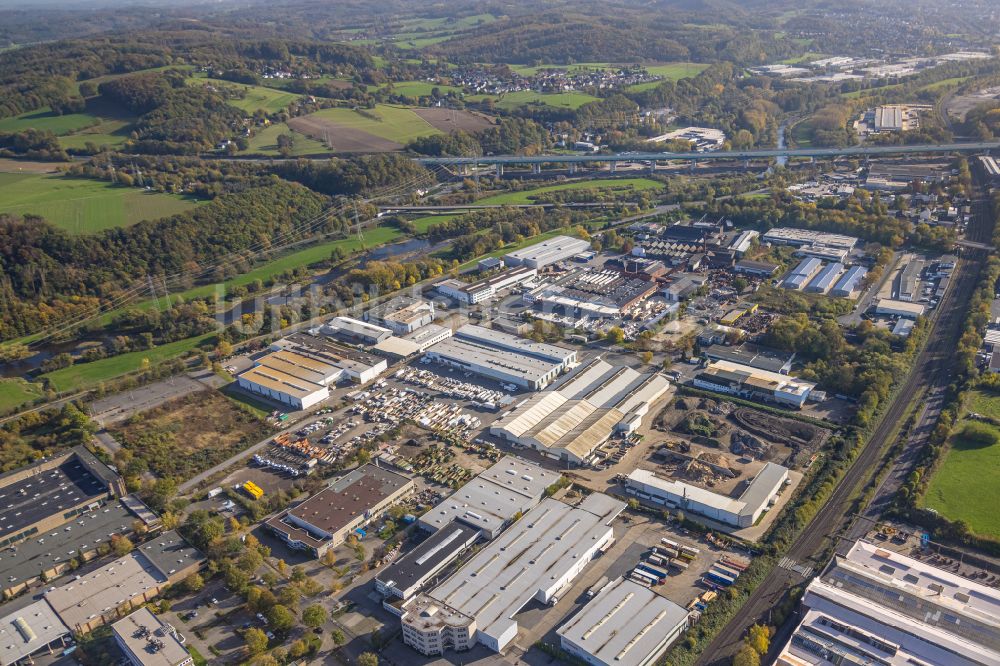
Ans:
[{"label": "long brown railway track corridor running diagonally down the right side", "polygon": [[[970,232],[972,240],[983,240],[990,236],[992,224],[988,219],[988,210],[985,210],[984,206],[984,203],[977,205],[973,222],[976,229]],[[896,399],[886,410],[875,432],[834,489],[830,499],[792,544],[786,562],[791,560],[790,564],[813,567],[816,570],[824,566],[825,562],[815,558],[822,554],[830,538],[839,539],[837,535],[842,533],[847,514],[852,508],[855,492],[874,473],[883,454],[883,444],[887,443],[897,424],[905,418],[911,397],[929,383],[931,386],[936,386],[940,382],[947,384],[950,377],[949,365],[961,334],[969,298],[976,284],[978,266],[984,257],[985,253],[972,251],[967,252],[965,258],[959,262],[951,289],[939,306],[937,319],[933,323],[927,344],[915,359],[910,374],[896,394]],[[932,392],[931,395],[935,393]],[[914,450],[912,446],[907,447],[911,456]],[[887,490],[887,487],[883,488],[883,496]],[[747,628],[759,620],[766,621],[769,611],[781,601],[785,592],[793,585],[803,582],[804,578],[797,571],[783,566],[775,567],[736,616],[716,636],[697,663],[728,665],[732,655],[739,649]],[[774,643],[778,647],[778,641]]]}]

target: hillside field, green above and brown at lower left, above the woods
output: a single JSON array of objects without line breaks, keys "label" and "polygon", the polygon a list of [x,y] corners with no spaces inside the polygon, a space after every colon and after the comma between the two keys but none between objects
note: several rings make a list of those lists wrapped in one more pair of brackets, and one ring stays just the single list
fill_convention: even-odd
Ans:
[{"label": "hillside field, green above and brown at lower left, above the woods", "polygon": [[439,130],[405,106],[379,104],[374,109],[323,109],[292,118],[288,126],[324,141],[335,152],[389,152]]}]

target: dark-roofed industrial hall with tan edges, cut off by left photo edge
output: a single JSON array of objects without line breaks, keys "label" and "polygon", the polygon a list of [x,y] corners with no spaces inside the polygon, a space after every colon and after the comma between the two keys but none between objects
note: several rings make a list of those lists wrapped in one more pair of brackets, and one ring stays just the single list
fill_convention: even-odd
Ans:
[{"label": "dark-roofed industrial hall with tan edges, cut off by left photo edge", "polygon": [[121,477],[83,446],[0,475],[6,506],[0,511],[0,548],[60,527],[125,494]]}]

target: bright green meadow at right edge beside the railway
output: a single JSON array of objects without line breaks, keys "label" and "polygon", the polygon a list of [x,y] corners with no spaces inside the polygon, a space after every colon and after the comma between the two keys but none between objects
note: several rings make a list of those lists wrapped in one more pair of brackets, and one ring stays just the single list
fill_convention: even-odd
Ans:
[{"label": "bright green meadow at right edge beside the railway", "polygon": [[[994,404],[988,408],[981,404],[979,409],[1000,412],[1000,399],[991,398],[991,401]],[[985,423],[976,425],[1000,438],[1000,428]],[[940,467],[927,484],[920,506],[933,509],[949,520],[964,521],[975,534],[1000,539],[996,510],[1000,491],[1000,443],[984,444],[967,437],[962,423],[958,428]]]}]

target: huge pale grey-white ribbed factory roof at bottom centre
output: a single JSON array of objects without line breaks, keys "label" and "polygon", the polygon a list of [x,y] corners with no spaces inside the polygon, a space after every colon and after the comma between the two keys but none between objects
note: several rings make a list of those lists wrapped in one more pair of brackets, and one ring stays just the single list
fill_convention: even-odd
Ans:
[{"label": "huge pale grey-white ribbed factory roof at bottom centre", "polygon": [[521,608],[558,593],[582,558],[606,542],[624,508],[601,493],[578,507],[543,500],[427,596],[475,618],[478,631],[499,643],[516,633]]}]

